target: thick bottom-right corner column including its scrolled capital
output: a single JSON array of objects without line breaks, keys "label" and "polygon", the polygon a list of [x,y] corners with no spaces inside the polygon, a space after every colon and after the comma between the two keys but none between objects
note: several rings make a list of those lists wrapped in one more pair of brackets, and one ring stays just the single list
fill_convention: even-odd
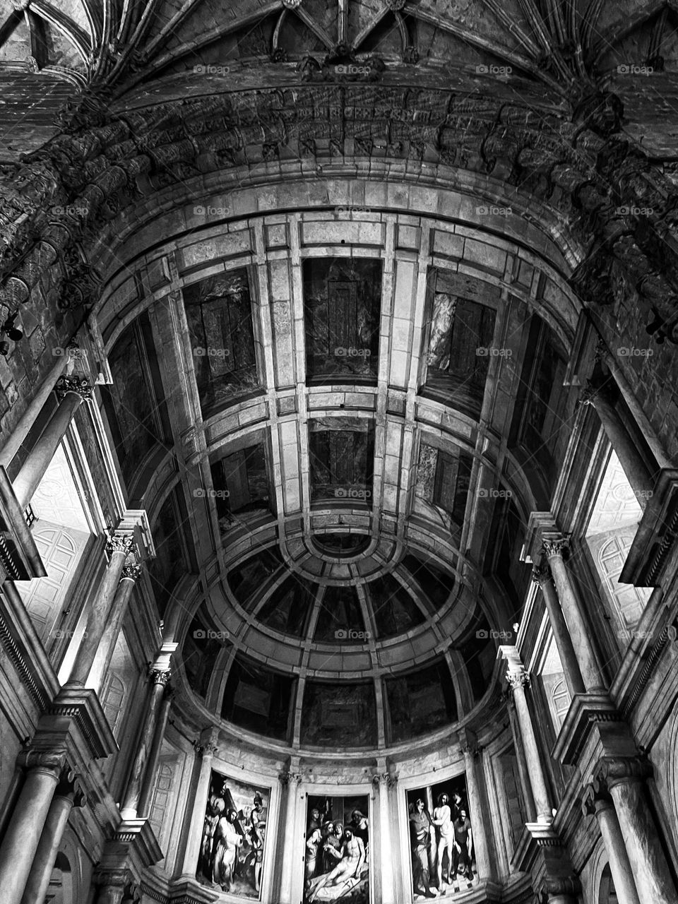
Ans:
[{"label": "thick bottom-right corner column including its scrolled capital", "polygon": [[640,904],[675,904],[678,890],[645,798],[644,779],[650,773],[650,764],[639,757],[605,757],[597,778],[607,784],[614,802]]}]

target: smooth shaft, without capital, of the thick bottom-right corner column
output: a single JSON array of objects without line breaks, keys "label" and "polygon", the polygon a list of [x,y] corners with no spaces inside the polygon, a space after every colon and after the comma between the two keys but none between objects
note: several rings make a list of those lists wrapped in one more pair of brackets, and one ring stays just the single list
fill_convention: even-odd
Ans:
[{"label": "smooth shaft, without capital, of the thick bottom-right corner column", "polygon": [[640,904],[675,904],[678,892],[645,802],[644,783],[630,778],[610,785],[609,792],[615,802],[628,860],[636,877]]}]

